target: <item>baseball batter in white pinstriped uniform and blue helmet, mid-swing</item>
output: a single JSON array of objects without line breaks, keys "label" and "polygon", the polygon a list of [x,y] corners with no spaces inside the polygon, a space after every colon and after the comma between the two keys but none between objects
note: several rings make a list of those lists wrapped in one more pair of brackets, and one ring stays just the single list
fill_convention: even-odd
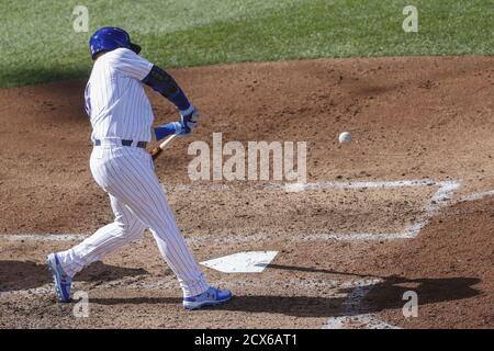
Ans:
[{"label": "baseball batter in white pinstriped uniform and blue helmet, mid-swing", "polygon": [[[145,149],[153,137],[190,135],[197,110],[170,75],[138,55],[141,47],[124,30],[102,27],[89,44],[94,61],[85,92],[94,145],[90,167],[110,196],[115,219],[71,249],[48,254],[58,301],[70,301],[71,280],[83,267],[139,238],[146,228],[178,278],[186,309],[228,301],[232,293],[210,286],[194,261]],[[172,102],[180,122],[151,128],[154,115],[143,84]]]}]

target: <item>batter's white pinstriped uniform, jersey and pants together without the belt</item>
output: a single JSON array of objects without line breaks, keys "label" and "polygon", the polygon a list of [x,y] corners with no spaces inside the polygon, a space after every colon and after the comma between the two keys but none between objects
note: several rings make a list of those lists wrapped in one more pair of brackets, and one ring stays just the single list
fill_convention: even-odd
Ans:
[{"label": "batter's white pinstriped uniform, jersey and pants together without the belt", "polygon": [[[141,81],[151,68],[148,60],[125,48],[109,52],[96,60],[86,88],[93,140],[150,140],[154,116]],[[180,235],[150,155],[143,148],[123,147],[114,141],[106,140],[104,147],[103,144],[94,146],[90,167],[97,183],[110,195],[115,219],[79,245],[57,252],[60,265],[74,276],[150,228],[161,256],[179,280],[183,296],[204,293],[209,284]]]}]

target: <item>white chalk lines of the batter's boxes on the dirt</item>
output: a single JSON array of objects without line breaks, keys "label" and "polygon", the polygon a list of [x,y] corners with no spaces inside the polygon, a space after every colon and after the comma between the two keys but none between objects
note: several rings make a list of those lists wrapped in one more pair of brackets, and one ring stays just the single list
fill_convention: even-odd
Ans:
[{"label": "white chalk lines of the batter's boxes on the dirt", "polygon": [[[316,182],[316,183],[292,183],[292,184],[267,184],[263,190],[266,191],[285,191],[285,192],[301,192],[321,189],[400,189],[407,186],[438,186],[438,190],[429,199],[428,203],[425,205],[424,215],[418,218],[414,224],[412,224],[406,230],[397,234],[311,234],[311,235],[291,235],[285,240],[290,241],[316,241],[316,240],[386,240],[386,239],[407,239],[416,237],[420,229],[426,226],[427,222],[433,217],[436,212],[447,205],[451,205],[458,202],[465,201],[476,201],[487,196],[494,195],[494,190],[485,191],[481,193],[473,193],[456,201],[451,200],[456,190],[461,186],[460,181],[435,181],[430,179],[425,180],[403,180],[403,181],[367,181],[367,182]],[[202,186],[201,189],[204,189]],[[173,191],[193,191],[193,185],[176,186]],[[210,191],[231,191],[232,188],[225,186],[211,186]],[[86,238],[87,235],[81,234],[56,234],[56,235],[4,235],[2,238],[7,240],[14,241],[74,241],[81,240]],[[247,242],[252,240],[267,240],[267,239],[279,239],[279,235],[276,234],[257,234],[257,235],[238,235],[228,236],[225,234],[225,238],[222,238],[217,234],[212,236],[194,236],[188,239],[190,244],[206,242],[211,245],[216,245],[218,242]],[[329,317],[323,329],[341,329],[341,328],[372,328],[372,329],[389,329],[397,328],[385,321],[380,320],[375,315],[369,314],[362,310],[362,299],[364,296],[374,287],[375,284],[380,283],[381,280],[360,280],[357,282],[348,281],[343,284],[338,282],[327,282],[327,284],[337,287],[352,288],[350,294],[346,297],[343,304],[343,310],[338,316]],[[113,282],[115,283],[115,282]],[[276,283],[276,282],[273,282]],[[283,282],[285,284],[287,282]],[[108,283],[109,285],[112,282]],[[225,282],[226,284],[226,282]],[[321,284],[321,282],[317,282]],[[131,284],[132,285],[132,284]],[[136,288],[162,288],[164,286],[175,285],[175,282],[154,282],[154,283],[136,283]],[[266,282],[262,283],[262,286]],[[296,284],[295,284],[296,286]],[[46,294],[48,287],[42,286],[29,291],[21,292],[4,292],[0,294],[0,297],[9,297],[13,294],[26,294],[26,295],[37,295]]]}]

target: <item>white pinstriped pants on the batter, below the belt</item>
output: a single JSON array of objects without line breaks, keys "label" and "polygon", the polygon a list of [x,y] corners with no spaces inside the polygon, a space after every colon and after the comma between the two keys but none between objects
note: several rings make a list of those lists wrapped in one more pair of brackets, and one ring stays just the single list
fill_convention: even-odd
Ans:
[{"label": "white pinstriped pants on the batter, below the belt", "polygon": [[142,148],[104,141],[93,148],[90,165],[94,180],[110,195],[115,220],[71,249],[58,252],[64,271],[74,276],[149,228],[184,297],[202,294],[209,285],[177,227],[150,155]]}]

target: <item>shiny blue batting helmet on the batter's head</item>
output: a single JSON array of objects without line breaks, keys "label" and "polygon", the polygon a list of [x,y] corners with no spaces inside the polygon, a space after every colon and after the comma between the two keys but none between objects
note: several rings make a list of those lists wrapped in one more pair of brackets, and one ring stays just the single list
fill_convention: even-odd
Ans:
[{"label": "shiny blue batting helmet on the batter's head", "polygon": [[141,46],[131,43],[131,36],[124,30],[114,26],[103,26],[94,32],[89,39],[91,57],[101,52],[111,52],[119,47],[126,47],[138,54]]}]

